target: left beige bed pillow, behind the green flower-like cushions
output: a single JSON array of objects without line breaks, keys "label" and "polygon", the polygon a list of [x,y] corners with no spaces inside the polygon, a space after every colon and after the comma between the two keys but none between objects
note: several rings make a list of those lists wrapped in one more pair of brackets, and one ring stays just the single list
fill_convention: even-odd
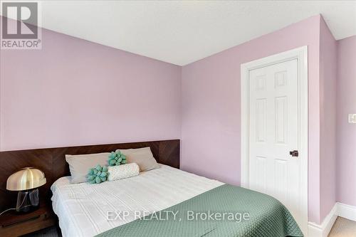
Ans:
[{"label": "left beige bed pillow, behind the green flower-like cushions", "polygon": [[87,181],[88,170],[93,167],[108,165],[109,152],[97,154],[66,154],[66,162],[69,164],[70,183],[78,184]]}]

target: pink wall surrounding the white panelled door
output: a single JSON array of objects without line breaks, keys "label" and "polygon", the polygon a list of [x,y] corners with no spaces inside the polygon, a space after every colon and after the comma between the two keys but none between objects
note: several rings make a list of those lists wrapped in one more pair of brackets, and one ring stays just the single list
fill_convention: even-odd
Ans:
[{"label": "pink wall surrounding the white panelled door", "polygon": [[240,184],[240,64],[300,46],[308,46],[309,219],[320,223],[320,16],[183,67],[181,165]]}]

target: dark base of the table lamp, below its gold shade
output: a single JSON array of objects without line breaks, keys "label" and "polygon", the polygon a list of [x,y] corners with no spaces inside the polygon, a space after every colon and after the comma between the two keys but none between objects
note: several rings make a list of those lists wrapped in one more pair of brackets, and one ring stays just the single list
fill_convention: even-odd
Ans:
[{"label": "dark base of the table lamp, below its gold shade", "polygon": [[19,191],[17,194],[16,211],[29,212],[38,209],[40,206],[38,189]]}]

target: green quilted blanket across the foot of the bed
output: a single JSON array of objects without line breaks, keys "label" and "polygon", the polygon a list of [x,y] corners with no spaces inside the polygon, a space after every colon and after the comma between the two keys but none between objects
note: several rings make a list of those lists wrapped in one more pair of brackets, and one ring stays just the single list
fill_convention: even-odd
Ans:
[{"label": "green quilted blanket across the foot of the bed", "polygon": [[303,236],[303,233],[278,200],[256,191],[224,184],[98,236],[285,237]]}]

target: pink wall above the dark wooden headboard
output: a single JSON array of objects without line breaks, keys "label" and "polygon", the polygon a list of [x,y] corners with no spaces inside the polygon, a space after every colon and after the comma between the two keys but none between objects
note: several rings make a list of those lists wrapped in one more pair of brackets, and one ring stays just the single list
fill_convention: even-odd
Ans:
[{"label": "pink wall above the dark wooden headboard", "polygon": [[179,66],[42,33],[1,50],[1,150],[180,138]]}]

